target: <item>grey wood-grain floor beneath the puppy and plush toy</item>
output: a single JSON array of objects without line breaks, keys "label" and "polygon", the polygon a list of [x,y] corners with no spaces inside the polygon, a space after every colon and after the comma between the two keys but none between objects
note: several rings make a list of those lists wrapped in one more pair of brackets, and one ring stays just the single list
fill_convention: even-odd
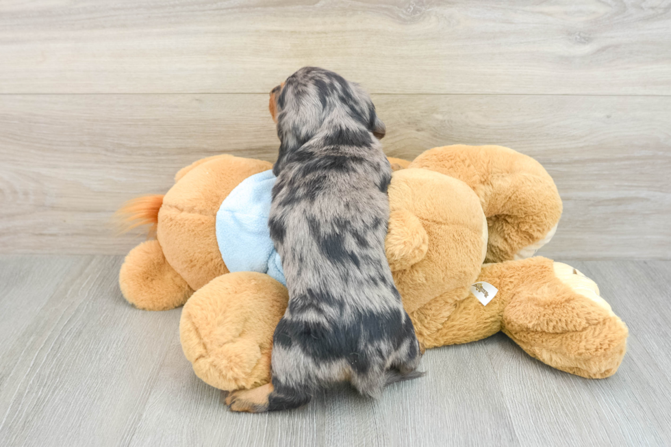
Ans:
[{"label": "grey wood-grain floor beneath the puppy and plush toy", "polygon": [[[427,375],[379,400],[338,386],[302,409],[263,415],[229,413],[222,394],[193,374],[179,309],[123,301],[120,262],[0,255],[0,286],[11,292],[0,295],[11,315],[0,345],[0,445],[671,444],[671,261],[573,263],[631,332],[609,379],[553,370],[498,334],[428,350]],[[25,309],[16,294],[30,298]]]}]

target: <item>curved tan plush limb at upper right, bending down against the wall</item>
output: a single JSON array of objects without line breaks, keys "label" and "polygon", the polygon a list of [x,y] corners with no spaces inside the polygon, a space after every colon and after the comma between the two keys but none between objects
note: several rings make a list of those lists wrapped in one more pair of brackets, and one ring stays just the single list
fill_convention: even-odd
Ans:
[{"label": "curved tan plush limb at upper right, bending down against the wall", "polygon": [[488,262],[529,257],[554,235],[562,210],[559,192],[527,155],[503,146],[455,144],[430,149],[409,167],[455,177],[479,196],[489,226]]}]

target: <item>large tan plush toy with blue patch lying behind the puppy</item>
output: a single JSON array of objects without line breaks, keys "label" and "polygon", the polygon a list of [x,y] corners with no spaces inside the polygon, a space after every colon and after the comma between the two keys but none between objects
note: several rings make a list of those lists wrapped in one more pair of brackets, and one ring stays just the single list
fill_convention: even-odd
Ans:
[{"label": "large tan plush toy with blue patch lying behind the puppy", "polygon": [[[587,378],[616,372],[627,329],[596,283],[531,257],[561,216],[540,164],[501,146],[462,145],[390,162],[386,252],[425,347],[503,331],[559,370]],[[184,305],[184,354],[220,389],[270,380],[273,331],[288,302],[267,229],[270,168],[231,155],[201,159],[177,173],[165,196],[122,210],[155,224],[157,236],[127,255],[123,296],[140,309]]]}]

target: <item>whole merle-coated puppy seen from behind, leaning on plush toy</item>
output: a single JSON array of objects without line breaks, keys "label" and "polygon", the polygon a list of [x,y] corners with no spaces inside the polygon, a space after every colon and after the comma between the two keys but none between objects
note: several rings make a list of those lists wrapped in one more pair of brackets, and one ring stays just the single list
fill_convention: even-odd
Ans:
[{"label": "whole merle-coated puppy seen from behind, leaning on plush toy", "polygon": [[377,396],[420,376],[420,346],[385,256],[392,168],[370,97],[305,67],[270,92],[270,113],[281,145],[268,225],[289,304],[273,337],[272,383],[227,404],[292,409],[329,383]]}]

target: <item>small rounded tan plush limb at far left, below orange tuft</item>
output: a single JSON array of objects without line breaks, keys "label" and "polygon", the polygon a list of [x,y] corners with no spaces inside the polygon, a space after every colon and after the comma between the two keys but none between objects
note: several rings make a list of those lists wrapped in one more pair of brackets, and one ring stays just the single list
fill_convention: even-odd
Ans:
[{"label": "small rounded tan plush limb at far left, below orange tuft", "polygon": [[145,310],[174,309],[193,293],[168,264],[157,240],[142,242],[128,253],[119,272],[119,287],[129,303]]}]

